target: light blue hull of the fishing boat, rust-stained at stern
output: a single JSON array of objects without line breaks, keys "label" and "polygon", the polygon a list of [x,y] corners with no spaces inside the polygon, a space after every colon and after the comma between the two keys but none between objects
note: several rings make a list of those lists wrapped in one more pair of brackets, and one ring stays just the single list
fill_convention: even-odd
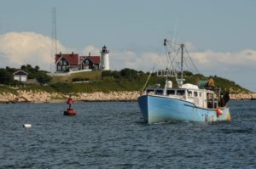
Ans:
[{"label": "light blue hull of the fishing boat, rust-stained at stern", "polygon": [[138,98],[138,104],[144,121],[148,123],[170,121],[230,121],[229,108],[202,109],[195,104],[180,99],[172,99],[155,95],[143,95]]}]

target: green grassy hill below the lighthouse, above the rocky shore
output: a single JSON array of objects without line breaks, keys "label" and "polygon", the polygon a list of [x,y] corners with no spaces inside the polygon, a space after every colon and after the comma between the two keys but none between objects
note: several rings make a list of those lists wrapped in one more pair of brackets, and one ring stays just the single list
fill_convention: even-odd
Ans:
[{"label": "green grassy hill below the lighthouse, above the rocky shore", "polygon": [[[37,84],[23,85],[19,88],[32,91],[47,91],[60,93],[93,93],[102,91],[104,93],[112,91],[140,91],[147,82],[149,73],[143,71],[131,70],[125,68],[120,71],[91,71],[71,74],[69,76],[53,76],[51,82],[46,86]],[[185,83],[196,84],[199,81],[206,81],[212,78],[215,86],[222,90],[226,89],[230,93],[250,93],[249,90],[243,88],[228,79],[218,76],[193,75],[189,71],[184,72]],[[177,87],[175,79],[171,79],[173,86]],[[156,76],[153,73],[148,81],[148,86],[160,84],[164,87],[166,79]],[[0,87],[0,93],[15,93],[15,89],[9,87]]]}]

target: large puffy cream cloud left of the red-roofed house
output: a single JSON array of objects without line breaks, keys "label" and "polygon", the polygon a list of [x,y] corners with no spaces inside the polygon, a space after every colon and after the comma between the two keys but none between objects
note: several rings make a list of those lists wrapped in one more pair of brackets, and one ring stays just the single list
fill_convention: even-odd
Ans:
[{"label": "large puffy cream cloud left of the red-roofed house", "polygon": [[[60,42],[61,51],[66,51]],[[1,67],[20,68],[20,65],[38,65],[49,70],[51,39],[34,32],[10,32],[0,35]]]}]

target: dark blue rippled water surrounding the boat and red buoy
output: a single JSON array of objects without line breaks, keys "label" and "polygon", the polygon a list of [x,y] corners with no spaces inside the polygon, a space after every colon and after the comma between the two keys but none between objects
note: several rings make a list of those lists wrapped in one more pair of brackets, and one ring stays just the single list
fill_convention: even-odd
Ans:
[{"label": "dark blue rippled water surrounding the boat and red buoy", "polygon": [[137,103],[66,107],[0,104],[0,168],[256,168],[256,101],[230,102],[230,123],[147,125]]}]

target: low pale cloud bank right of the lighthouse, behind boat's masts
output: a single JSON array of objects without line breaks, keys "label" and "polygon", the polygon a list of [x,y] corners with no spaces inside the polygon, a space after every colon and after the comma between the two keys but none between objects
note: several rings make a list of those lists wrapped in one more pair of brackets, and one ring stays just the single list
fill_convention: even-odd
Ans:
[{"label": "low pale cloud bank right of the lighthouse, behind boat's masts", "polygon": [[[249,67],[254,69],[256,65],[256,51],[248,49],[235,53],[221,53],[208,50],[192,52],[189,55],[202,74],[207,71],[209,75],[218,75],[218,72],[225,73],[226,71],[241,70]],[[128,67],[148,71],[154,65],[156,65],[156,69],[160,69],[159,65],[166,66],[166,56],[156,53],[136,54],[133,51],[113,51],[109,54],[109,58],[110,66],[113,70]]]}]

